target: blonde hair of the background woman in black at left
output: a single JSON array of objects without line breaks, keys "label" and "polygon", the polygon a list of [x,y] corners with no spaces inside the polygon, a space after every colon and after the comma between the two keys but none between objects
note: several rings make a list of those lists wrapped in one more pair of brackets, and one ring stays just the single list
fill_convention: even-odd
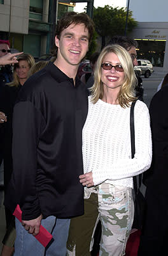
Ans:
[{"label": "blonde hair of the background woman in black at left", "polygon": [[[34,58],[29,53],[23,53],[20,56],[18,56],[17,61],[19,62],[21,60],[27,61],[29,68],[31,68],[32,65],[34,65],[34,63],[35,63]],[[11,83],[6,83],[6,84],[8,84],[8,86],[17,86],[18,87],[18,85],[20,84],[18,76],[17,76],[17,72],[16,72],[17,67],[18,67],[18,63],[15,63],[13,65],[13,81],[11,81]]]}]

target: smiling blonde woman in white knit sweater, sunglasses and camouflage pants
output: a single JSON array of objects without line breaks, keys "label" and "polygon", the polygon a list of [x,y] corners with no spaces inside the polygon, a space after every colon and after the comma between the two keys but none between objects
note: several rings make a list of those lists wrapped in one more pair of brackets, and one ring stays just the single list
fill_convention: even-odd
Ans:
[{"label": "smiling blonde woman in white knit sweater, sunglasses and camouflage pants", "polygon": [[97,60],[88,116],[83,127],[85,214],[71,220],[67,254],[91,255],[94,230],[101,220],[99,255],[125,255],[134,219],[134,175],[151,164],[148,108],[134,109],[136,153],[131,157],[130,106],[136,100],[136,76],[130,55],[119,45],[105,47]]}]

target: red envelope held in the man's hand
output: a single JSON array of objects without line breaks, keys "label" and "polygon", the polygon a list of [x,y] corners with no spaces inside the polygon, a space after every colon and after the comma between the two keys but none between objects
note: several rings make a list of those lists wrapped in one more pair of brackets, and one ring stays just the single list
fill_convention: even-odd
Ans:
[{"label": "red envelope held in the man's hand", "polygon": [[[17,205],[15,211],[13,212],[13,215],[22,222],[22,211],[20,210],[20,206]],[[38,239],[39,243],[41,243],[43,246],[47,246],[47,244],[51,241],[52,235],[41,225],[39,228],[39,234],[34,236],[36,239]]]}]

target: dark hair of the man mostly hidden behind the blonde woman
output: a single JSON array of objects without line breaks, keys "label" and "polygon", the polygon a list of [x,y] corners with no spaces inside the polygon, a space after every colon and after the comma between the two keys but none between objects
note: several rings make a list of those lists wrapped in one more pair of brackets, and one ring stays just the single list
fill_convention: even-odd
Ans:
[{"label": "dark hair of the man mostly hidden behind the blonde woman", "polygon": [[128,36],[112,36],[109,44],[118,44],[125,48],[125,50],[129,51],[132,47],[138,46],[136,40],[128,37]]}]

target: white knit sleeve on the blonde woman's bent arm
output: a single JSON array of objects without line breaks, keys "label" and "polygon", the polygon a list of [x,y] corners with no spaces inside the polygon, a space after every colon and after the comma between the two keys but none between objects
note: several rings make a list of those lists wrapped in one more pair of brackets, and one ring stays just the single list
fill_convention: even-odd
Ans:
[{"label": "white knit sleeve on the blonde woman's bent arm", "polygon": [[134,109],[135,145],[134,158],[114,160],[109,168],[92,170],[94,185],[105,180],[120,180],[143,173],[150,168],[152,157],[150,115],[145,104]]}]

